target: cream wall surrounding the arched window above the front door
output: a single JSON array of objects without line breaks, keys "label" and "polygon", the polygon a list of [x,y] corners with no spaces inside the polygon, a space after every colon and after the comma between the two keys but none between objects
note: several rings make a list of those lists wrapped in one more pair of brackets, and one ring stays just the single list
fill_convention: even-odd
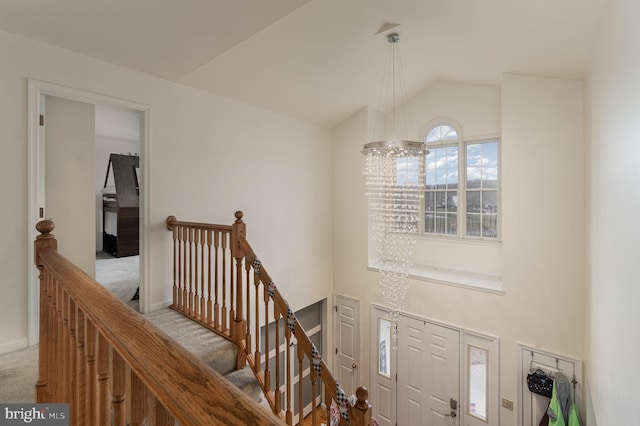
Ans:
[{"label": "cream wall surrounding the arched window above the front door", "polygon": [[[505,75],[501,88],[439,83],[415,97],[410,110],[414,121],[422,121],[416,129],[451,116],[466,136],[502,133],[505,293],[412,281],[408,311],[498,336],[500,394],[517,401],[518,342],[583,355],[582,85],[515,75]],[[361,112],[334,131],[340,157],[334,160],[335,286],[337,293],[362,300],[362,371],[370,368],[370,304],[383,302],[378,277],[366,270],[364,255],[367,207],[359,152],[366,119]],[[419,255],[429,257],[429,252]],[[532,301],[544,302],[540,314],[531,312]],[[501,409],[501,424],[516,425],[518,409]]]}]

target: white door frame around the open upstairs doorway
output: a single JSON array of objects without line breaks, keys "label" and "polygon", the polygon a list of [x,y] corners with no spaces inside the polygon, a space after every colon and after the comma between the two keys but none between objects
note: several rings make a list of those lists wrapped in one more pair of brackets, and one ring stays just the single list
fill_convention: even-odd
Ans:
[{"label": "white door frame around the open upstairs doorway", "polygon": [[[41,220],[40,207],[44,206],[44,146],[40,132],[40,99],[44,96],[55,96],[72,101],[89,104],[109,105],[117,108],[129,109],[141,115],[140,140],[140,311],[147,312],[150,308],[149,294],[149,112],[148,105],[131,102],[110,96],[100,95],[54,83],[28,79],[27,88],[27,247],[32,247],[37,236],[36,223]],[[27,326],[29,346],[38,343],[39,316],[39,281],[34,268],[33,250],[27,250]]]}]

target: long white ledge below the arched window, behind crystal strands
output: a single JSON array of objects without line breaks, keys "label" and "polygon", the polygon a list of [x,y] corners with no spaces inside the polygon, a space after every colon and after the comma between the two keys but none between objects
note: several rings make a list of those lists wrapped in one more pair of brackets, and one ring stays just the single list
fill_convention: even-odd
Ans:
[{"label": "long white ledge below the arched window, behind crystal strands", "polygon": [[[380,267],[370,264],[367,266],[367,269],[378,272]],[[429,265],[413,265],[409,268],[409,278],[487,293],[504,294],[502,277],[496,275],[438,268]]]}]

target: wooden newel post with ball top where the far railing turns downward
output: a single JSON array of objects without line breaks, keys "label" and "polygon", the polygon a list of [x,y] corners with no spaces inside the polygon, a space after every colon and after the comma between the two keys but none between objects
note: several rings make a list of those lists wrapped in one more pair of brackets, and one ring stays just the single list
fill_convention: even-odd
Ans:
[{"label": "wooden newel post with ball top where the far railing turns downward", "polygon": [[[242,221],[243,216],[244,214],[240,210],[238,210],[235,213],[236,221],[231,226],[231,255],[236,260],[235,300],[231,301],[231,309],[234,310],[234,312],[232,312],[234,320],[231,329],[231,337],[233,338],[236,345],[238,345],[238,347],[240,347],[240,342],[245,339],[247,335],[247,321],[244,316],[242,297],[242,271],[245,253],[240,248],[240,238],[245,238],[247,236],[247,225]],[[248,306],[247,309],[249,309]],[[238,351],[238,359],[236,362],[238,368],[242,368],[245,366],[245,351]]]}]

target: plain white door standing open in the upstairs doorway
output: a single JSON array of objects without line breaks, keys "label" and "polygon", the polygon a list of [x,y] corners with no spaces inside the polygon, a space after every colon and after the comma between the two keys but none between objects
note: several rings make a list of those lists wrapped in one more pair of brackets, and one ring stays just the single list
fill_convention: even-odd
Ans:
[{"label": "plain white door standing open in the upstairs doorway", "polygon": [[95,108],[46,96],[45,209],[58,249],[95,276]]}]

